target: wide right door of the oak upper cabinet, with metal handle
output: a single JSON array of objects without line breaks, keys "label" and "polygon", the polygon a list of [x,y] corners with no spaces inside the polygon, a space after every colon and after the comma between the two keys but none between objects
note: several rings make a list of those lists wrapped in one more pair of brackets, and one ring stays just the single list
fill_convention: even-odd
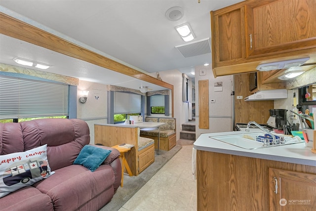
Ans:
[{"label": "wide right door of the oak upper cabinet, with metal handle", "polygon": [[316,45],[316,0],[251,1],[245,10],[247,57]]}]

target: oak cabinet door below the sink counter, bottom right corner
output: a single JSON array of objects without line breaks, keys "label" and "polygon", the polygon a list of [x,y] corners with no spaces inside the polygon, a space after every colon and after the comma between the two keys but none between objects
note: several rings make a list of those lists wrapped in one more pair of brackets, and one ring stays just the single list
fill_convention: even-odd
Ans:
[{"label": "oak cabinet door below the sink counter, bottom right corner", "polygon": [[316,174],[269,169],[270,211],[315,211]]}]

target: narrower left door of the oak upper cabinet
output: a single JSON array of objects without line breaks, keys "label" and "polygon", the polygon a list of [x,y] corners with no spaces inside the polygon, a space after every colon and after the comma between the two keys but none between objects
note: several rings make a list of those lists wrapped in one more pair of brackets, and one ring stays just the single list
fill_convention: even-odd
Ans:
[{"label": "narrower left door of the oak upper cabinet", "polygon": [[245,58],[244,7],[211,12],[213,68]]}]

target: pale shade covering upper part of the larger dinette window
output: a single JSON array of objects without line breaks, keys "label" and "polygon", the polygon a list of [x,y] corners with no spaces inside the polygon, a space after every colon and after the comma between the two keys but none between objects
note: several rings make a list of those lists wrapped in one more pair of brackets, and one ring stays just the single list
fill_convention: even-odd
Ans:
[{"label": "pale shade covering upper part of the larger dinette window", "polygon": [[114,114],[134,114],[141,112],[141,95],[118,91],[114,92]]}]

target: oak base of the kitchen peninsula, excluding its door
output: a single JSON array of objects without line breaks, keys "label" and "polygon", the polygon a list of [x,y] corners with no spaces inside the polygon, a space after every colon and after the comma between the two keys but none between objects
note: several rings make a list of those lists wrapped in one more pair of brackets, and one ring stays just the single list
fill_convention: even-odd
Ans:
[{"label": "oak base of the kitchen peninsula, excluding its door", "polygon": [[197,211],[273,210],[269,168],[316,176],[312,166],[197,150]]}]

